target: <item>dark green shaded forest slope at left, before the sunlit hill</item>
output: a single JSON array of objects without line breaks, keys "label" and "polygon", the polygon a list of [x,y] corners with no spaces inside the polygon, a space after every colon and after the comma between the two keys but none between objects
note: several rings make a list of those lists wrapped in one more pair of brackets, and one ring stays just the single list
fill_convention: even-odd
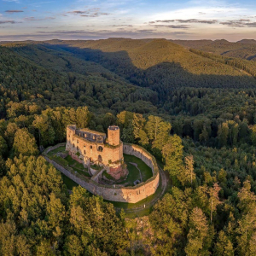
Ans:
[{"label": "dark green shaded forest slope at left, before the sunlit hill", "polygon": [[154,111],[157,98],[154,91],[129,84],[96,63],[39,46],[20,47],[16,52],[0,47],[1,117],[10,101],[41,108],[86,104],[102,113],[109,108],[147,113]]}]

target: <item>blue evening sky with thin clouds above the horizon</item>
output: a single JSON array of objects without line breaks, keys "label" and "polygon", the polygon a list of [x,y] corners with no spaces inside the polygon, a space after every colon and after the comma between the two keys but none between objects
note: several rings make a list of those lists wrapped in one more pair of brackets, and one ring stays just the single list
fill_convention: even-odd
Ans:
[{"label": "blue evening sky with thin clouds above the horizon", "polygon": [[256,4],[255,0],[0,0],[0,41],[53,38],[256,39]]}]

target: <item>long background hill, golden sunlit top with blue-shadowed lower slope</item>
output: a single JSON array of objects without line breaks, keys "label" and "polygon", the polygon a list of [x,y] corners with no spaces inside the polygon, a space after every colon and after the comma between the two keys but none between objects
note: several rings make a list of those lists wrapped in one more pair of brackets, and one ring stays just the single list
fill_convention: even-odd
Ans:
[{"label": "long background hill, golden sunlit top with blue-shadowed lower slope", "polygon": [[[45,43],[46,44],[46,43]],[[183,86],[254,88],[255,80],[236,67],[195,55],[165,39],[48,42],[87,61],[95,61],[132,84],[149,87],[160,99]]]}]

